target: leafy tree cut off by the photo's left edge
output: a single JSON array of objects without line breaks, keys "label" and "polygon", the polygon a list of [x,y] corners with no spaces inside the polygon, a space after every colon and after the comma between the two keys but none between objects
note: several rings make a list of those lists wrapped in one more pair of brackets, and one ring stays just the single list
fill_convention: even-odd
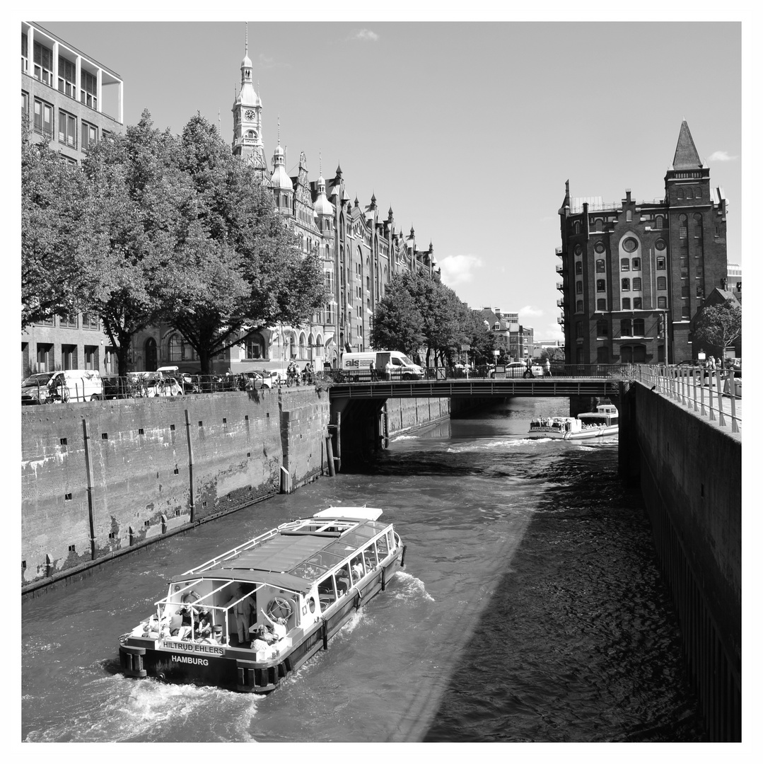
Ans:
[{"label": "leafy tree cut off by the photo's left edge", "polygon": [[89,247],[94,200],[82,170],[21,125],[21,327],[90,302],[103,262]]}]

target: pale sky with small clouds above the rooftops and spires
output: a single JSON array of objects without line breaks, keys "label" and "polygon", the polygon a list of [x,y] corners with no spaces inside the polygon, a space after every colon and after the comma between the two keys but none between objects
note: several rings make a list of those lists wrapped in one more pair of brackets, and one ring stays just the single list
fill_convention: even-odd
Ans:
[{"label": "pale sky with small clouds above the rooftops and spires", "polygon": [[[179,133],[200,112],[226,141],[245,21],[37,19],[124,79],[128,125],[148,109],[157,128]],[[247,27],[269,164],[280,130],[290,175],[300,151],[311,180],[341,165],[351,198],[367,206],[374,194],[419,248],[432,242],[462,300],[519,311],[536,340],[563,338],[554,249],[564,182],[605,202],[626,189],[661,199],[684,119],[729,199],[729,262],[744,266],[739,22]]]}]

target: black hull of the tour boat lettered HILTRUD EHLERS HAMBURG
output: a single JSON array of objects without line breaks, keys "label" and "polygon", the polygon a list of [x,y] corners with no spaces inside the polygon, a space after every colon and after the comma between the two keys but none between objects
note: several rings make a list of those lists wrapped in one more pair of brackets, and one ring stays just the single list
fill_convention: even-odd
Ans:
[{"label": "black hull of the tour boat lettered HILTRUD EHLERS HAMBURG", "polygon": [[214,685],[239,692],[273,691],[296,671],[362,607],[386,588],[403,567],[405,545],[400,545],[385,565],[379,565],[347,595],[302,627],[302,636],[267,661],[253,660],[250,649],[227,645],[202,645],[173,639],[127,637],[119,646],[122,672],[130,677],[153,677],[177,684]]}]

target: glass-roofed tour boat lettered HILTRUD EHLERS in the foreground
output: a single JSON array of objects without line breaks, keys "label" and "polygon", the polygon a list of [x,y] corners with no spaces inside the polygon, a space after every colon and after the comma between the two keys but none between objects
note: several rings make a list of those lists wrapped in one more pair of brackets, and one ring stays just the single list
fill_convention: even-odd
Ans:
[{"label": "glass-roofed tour boat lettered HILTRUD EHLERS in the foreground", "polygon": [[329,507],[170,581],[119,638],[124,675],[269,692],[383,591],[406,547],[382,510]]}]

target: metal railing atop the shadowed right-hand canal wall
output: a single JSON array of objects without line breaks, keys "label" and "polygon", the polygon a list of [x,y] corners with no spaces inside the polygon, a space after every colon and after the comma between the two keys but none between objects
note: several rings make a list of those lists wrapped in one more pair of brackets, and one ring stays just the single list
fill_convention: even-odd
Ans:
[{"label": "metal railing atop the shadowed right-hand canal wall", "polygon": [[707,416],[721,427],[731,425],[739,432],[742,416],[742,378],[731,369],[704,369],[695,366],[656,364],[635,367],[635,380],[656,393]]}]

